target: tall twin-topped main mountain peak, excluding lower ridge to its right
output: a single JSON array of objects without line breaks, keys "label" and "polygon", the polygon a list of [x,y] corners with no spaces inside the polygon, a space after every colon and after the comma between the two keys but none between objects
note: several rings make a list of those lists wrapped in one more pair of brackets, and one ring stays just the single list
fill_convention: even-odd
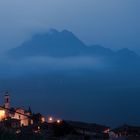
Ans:
[{"label": "tall twin-topped main mountain peak, excluding lower ridge to its right", "polygon": [[53,56],[67,57],[79,55],[85,47],[73,33],[69,31],[58,32],[54,29],[46,34],[37,34],[21,46],[9,51],[14,57],[25,56]]}]

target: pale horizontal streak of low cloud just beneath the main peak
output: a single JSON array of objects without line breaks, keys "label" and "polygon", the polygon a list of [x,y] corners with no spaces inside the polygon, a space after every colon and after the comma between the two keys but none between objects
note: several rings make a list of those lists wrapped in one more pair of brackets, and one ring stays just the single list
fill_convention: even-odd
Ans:
[{"label": "pale horizontal streak of low cloud just beneath the main peak", "polygon": [[67,58],[53,58],[53,57],[32,57],[25,60],[28,64],[47,66],[52,69],[73,69],[73,68],[99,68],[101,61],[93,57],[67,57]]}]

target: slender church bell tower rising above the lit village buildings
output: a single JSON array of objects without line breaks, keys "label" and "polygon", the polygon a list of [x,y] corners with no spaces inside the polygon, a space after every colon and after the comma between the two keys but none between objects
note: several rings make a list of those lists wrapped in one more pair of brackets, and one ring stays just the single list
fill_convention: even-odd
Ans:
[{"label": "slender church bell tower rising above the lit village buildings", "polygon": [[4,96],[4,107],[5,107],[5,115],[9,117],[9,109],[10,109],[10,96],[8,92]]}]

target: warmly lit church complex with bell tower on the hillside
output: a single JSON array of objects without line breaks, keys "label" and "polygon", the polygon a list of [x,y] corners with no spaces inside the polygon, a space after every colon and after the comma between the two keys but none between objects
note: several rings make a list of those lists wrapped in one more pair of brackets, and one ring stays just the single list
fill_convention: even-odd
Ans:
[{"label": "warmly lit church complex with bell tower on the hillside", "polygon": [[[38,116],[38,119],[36,119]],[[35,118],[35,119],[34,119]],[[23,108],[13,108],[10,105],[10,96],[8,93],[4,96],[4,105],[0,106],[0,122],[11,120],[14,122],[19,122],[20,126],[28,126],[36,123],[45,122],[45,117],[43,117],[40,113],[32,114],[31,109],[25,110]]]}]

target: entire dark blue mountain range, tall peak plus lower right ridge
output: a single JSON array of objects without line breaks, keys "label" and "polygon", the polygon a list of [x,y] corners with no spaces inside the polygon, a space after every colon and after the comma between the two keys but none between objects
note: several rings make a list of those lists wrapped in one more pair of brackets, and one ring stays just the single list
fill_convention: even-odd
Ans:
[{"label": "entire dark blue mountain range, tall peak plus lower right ridge", "polygon": [[114,56],[117,59],[138,58],[138,55],[129,49],[113,52],[111,49],[104,48],[100,45],[87,46],[72,32],[67,30],[58,32],[55,29],[51,29],[45,34],[34,35],[21,46],[8,51],[8,54],[12,57]]}]

